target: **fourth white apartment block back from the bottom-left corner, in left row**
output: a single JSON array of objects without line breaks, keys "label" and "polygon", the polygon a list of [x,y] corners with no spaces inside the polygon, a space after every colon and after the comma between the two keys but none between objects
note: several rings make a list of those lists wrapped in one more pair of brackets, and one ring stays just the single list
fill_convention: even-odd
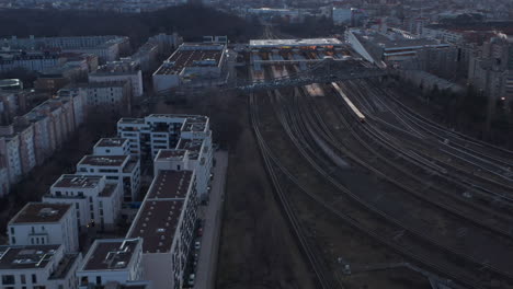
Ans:
[{"label": "fourth white apartment block back from the bottom-left corner, in left row", "polygon": [[77,164],[77,173],[104,175],[107,183],[122,187],[123,200],[137,200],[140,187],[140,162],[134,155],[86,155]]}]

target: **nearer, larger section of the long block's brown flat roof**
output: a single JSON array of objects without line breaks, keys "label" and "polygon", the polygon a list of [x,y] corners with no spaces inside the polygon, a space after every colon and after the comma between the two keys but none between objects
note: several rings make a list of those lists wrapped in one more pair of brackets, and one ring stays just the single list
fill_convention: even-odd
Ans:
[{"label": "nearer, larger section of the long block's brown flat roof", "polygon": [[144,253],[171,250],[184,200],[146,200],[132,224],[129,238],[142,238]]}]

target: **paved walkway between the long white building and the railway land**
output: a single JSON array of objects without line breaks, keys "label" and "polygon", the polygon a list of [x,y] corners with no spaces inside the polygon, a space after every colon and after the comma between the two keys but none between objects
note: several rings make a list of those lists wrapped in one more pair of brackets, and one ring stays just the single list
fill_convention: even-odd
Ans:
[{"label": "paved walkway between the long white building and the railway land", "polygon": [[223,220],[223,199],[225,195],[226,170],[228,167],[228,152],[218,151],[214,154],[216,166],[214,167],[214,180],[212,181],[210,199],[204,208],[202,248],[197,264],[195,289],[214,288],[214,275],[217,265],[217,252],[219,247],[220,223]]}]

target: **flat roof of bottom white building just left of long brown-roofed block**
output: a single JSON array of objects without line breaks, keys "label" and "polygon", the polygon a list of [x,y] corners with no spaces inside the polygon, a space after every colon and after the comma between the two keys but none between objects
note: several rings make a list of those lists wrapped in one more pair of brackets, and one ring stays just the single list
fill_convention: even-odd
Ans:
[{"label": "flat roof of bottom white building just left of long brown-roofed block", "polygon": [[89,250],[81,270],[123,270],[128,267],[140,239],[98,239]]}]

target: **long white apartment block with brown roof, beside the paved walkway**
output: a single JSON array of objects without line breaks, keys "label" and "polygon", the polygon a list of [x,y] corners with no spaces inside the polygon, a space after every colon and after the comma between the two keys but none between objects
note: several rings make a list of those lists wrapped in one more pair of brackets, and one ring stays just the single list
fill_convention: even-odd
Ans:
[{"label": "long white apartment block with brown roof, beside the paved walkway", "polygon": [[142,238],[144,279],[155,288],[183,286],[197,217],[193,171],[159,171],[127,238]]}]

